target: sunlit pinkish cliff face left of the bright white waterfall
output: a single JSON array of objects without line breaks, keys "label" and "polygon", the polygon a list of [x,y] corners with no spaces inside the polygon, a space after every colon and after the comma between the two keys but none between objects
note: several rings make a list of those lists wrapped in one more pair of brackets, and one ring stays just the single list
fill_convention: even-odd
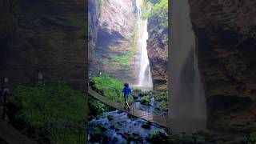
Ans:
[{"label": "sunlit pinkish cliff face left of the bright white waterfall", "polygon": [[[134,1],[100,1],[97,39],[91,46],[90,73],[110,74],[123,82],[135,82]],[[90,7],[89,9],[94,9]],[[90,27],[91,28],[91,27]],[[138,73],[137,73],[138,74]]]}]

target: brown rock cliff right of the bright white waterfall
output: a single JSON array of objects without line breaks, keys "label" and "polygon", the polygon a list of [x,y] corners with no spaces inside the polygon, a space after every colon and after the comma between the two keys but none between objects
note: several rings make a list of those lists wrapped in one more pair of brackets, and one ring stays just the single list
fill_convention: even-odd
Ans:
[{"label": "brown rock cliff right of the bright white waterfall", "polygon": [[148,18],[148,57],[154,90],[167,90],[168,30],[162,30],[157,18]]}]

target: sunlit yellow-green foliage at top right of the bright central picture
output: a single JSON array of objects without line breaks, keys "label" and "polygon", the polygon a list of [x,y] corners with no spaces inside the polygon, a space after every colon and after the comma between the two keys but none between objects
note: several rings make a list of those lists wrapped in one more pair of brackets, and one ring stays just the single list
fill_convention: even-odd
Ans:
[{"label": "sunlit yellow-green foliage at top right of the bright central picture", "polygon": [[154,18],[158,20],[162,30],[166,29],[168,27],[168,1],[144,0],[142,2],[142,18]]}]

